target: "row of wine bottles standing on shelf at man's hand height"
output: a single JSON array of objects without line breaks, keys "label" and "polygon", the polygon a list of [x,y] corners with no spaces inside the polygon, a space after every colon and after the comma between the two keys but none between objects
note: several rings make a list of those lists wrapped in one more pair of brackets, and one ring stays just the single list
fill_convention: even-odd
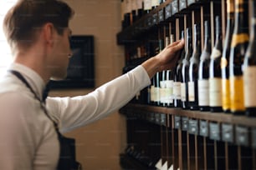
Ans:
[{"label": "row of wine bottles standing on shelf at man's hand height", "polygon": [[[219,16],[215,18],[213,48],[208,21],[204,22],[203,48],[201,26],[186,28],[181,36],[186,40],[185,47],[177,66],[157,72],[151,86],[142,90],[137,99],[141,97],[143,102],[157,106],[256,116],[256,2],[253,1],[250,32],[248,1],[227,3],[225,37]],[[170,43],[170,37],[166,38],[166,44]],[[158,41],[161,51],[162,38]]]}]

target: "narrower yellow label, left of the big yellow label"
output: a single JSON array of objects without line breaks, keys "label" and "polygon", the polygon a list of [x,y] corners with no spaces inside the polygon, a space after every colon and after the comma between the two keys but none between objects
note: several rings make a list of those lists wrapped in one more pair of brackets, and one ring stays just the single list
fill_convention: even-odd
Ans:
[{"label": "narrower yellow label, left of the big yellow label", "polygon": [[223,110],[230,109],[230,88],[229,88],[229,80],[222,80],[223,86]]}]

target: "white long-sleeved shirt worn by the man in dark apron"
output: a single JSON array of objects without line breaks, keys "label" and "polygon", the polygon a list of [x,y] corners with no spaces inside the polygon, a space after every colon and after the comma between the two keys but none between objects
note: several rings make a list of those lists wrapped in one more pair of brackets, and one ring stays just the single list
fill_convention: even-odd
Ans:
[{"label": "white long-sleeved shirt worn by the man in dark apron", "polygon": [[[9,69],[22,73],[42,97],[45,84],[36,72],[17,63]],[[60,132],[65,133],[106,117],[150,83],[146,70],[138,66],[87,95],[48,97],[48,112],[59,123]],[[11,73],[0,80],[0,136],[0,169],[56,168],[59,141],[53,122],[46,117],[28,87]]]}]

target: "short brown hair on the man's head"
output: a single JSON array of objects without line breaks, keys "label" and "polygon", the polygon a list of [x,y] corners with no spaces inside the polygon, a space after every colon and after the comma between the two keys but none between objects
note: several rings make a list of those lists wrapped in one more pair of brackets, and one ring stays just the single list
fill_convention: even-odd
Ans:
[{"label": "short brown hair on the man's head", "polygon": [[3,30],[12,48],[16,45],[29,47],[38,28],[53,23],[57,32],[63,34],[63,28],[69,27],[73,15],[71,7],[59,0],[19,0],[6,14]]}]

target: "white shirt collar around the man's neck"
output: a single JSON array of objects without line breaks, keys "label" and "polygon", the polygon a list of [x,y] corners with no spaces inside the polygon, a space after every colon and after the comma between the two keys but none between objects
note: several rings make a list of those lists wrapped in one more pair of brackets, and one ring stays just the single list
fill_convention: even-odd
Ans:
[{"label": "white shirt collar around the man's neck", "polygon": [[34,92],[36,92],[40,98],[43,96],[45,82],[37,72],[33,71],[33,69],[19,63],[12,63],[10,67],[8,67],[8,70],[15,70],[20,72],[23,77],[26,78]]}]

